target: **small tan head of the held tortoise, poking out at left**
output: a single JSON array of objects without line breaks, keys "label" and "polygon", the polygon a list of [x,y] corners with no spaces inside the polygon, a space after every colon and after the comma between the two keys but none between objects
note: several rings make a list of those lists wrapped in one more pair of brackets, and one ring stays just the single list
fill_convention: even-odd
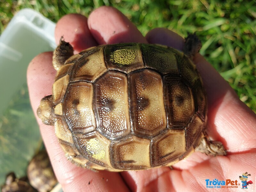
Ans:
[{"label": "small tan head of the held tortoise, poking out at left", "polygon": [[52,95],[44,97],[37,109],[37,116],[46,125],[54,125],[54,105]]}]

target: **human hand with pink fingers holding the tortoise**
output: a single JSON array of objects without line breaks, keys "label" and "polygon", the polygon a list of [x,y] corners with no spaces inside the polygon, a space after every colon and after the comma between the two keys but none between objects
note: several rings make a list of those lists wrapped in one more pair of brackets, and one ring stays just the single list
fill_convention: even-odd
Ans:
[{"label": "human hand with pink fingers holding the tortoise", "polygon": [[[151,43],[179,50],[184,44],[181,36],[164,28],[153,29],[143,37],[122,13],[111,7],[96,9],[88,20],[78,14],[64,16],[56,26],[57,44],[61,36],[74,47],[75,54],[100,44]],[[54,128],[43,124],[36,116],[53,169],[64,191],[205,191],[205,179],[237,180],[246,171],[252,174],[255,183],[256,115],[200,54],[196,55],[194,63],[207,93],[206,131],[213,140],[223,143],[228,150],[227,156],[212,157],[195,152],[173,165],[174,170],[161,167],[121,173],[93,172],[69,162]],[[29,64],[28,88],[35,115],[41,98],[52,94],[55,74],[52,52],[36,56]],[[255,185],[251,188],[255,190]]]}]

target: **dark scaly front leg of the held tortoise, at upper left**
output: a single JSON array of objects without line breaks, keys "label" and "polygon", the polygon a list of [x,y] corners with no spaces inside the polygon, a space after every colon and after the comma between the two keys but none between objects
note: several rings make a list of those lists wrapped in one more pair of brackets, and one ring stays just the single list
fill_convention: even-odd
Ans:
[{"label": "dark scaly front leg of the held tortoise, at upper left", "polygon": [[65,61],[71,57],[74,52],[73,47],[63,41],[63,36],[60,38],[60,44],[53,52],[52,65],[58,71],[61,66],[65,65]]}]

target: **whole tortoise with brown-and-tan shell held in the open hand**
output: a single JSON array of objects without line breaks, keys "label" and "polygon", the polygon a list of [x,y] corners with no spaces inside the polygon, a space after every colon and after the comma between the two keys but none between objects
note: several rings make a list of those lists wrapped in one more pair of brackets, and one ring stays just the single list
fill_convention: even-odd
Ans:
[{"label": "whole tortoise with brown-and-tan shell held in the open hand", "polygon": [[37,114],[54,124],[69,160],[94,170],[170,166],[196,148],[225,155],[205,134],[205,92],[191,61],[200,48],[191,34],[183,52],[126,43],[73,55],[61,39],[53,95],[41,100]]}]

